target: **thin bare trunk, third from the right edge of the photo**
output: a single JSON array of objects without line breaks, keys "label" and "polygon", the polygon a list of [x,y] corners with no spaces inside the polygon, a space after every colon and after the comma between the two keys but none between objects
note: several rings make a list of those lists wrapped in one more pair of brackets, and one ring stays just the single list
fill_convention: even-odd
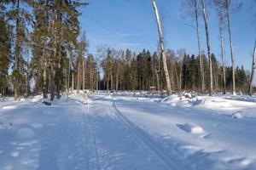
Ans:
[{"label": "thin bare trunk, third from the right edge of the photo", "polygon": [[221,59],[223,71],[223,94],[226,94],[226,73],[224,63],[224,38],[223,38],[223,15],[219,14],[219,33],[220,33],[220,46],[221,46]]}]

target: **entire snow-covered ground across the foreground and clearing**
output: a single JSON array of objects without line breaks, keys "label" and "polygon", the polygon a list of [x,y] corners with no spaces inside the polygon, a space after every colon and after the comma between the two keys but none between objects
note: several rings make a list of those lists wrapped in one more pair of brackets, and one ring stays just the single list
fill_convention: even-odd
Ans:
[{"label": "entire snow-covered ground across the foreground and clearing", "polygon": [[0,99],[0,169],[256,169],[256,98],[184,96]]}]

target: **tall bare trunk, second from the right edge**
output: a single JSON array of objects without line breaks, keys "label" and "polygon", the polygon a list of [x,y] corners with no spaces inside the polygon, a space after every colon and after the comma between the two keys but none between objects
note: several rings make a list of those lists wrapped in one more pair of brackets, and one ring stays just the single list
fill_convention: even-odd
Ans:
[{"label": "tall bare trunk, second from the right edge", "polygon": [[228,27],[229,27],[229,37],[230,37],[230,54],[232,61],[232,81],[233,81],[233,94],[236,94],[236,68],[235,68],[235,59],[233,54],[233,44],[231,37],[231,26],[230,26],[230,0],[226,0],[226,10],[227,10],[227,19],[228,19]]}]

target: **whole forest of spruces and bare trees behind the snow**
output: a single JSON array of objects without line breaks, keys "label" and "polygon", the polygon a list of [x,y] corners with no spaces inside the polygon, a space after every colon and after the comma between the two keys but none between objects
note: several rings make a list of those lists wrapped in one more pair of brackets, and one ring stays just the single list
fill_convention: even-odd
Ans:
[{"label": "whole forest of spruces and bare trees behind the snow", "polygon": [[[242,4],[230,0],[183,0],[181,3],[186,18],[192,20],[189,24],[196,29],[197,54],[187,54],[186,47],[178,50],[164,47],[155,0],[152,0],[155,14],[152,20],[156,19],[160,40],[156,42],[159,48],[154,53],[147,49],[140,53],[128,48],[115,49],[99,42],[96,54],[88,51],[90,42],[79,23],[79,8],[88,8],[89,3],[76,0],[1,1],[1,96],[19,99],[20,96],[44,94],[44,98],[53,100],[60,99],[61,93],[77,89],[253,94],[256,44],[254,51],[252,49],[252,71],[236,65],[232,46],[230,10],[239,10]],[[221,60],[211,51],[208,10],[218,14]],[[204,31],[199,31],[198,20],[204,21]],[[228,35],[224,35],[224,26],[228,27]],[[225,36],[229,38],[230,49],[227,50],[231,56],[224,56]],[[207,49],[201,48],[199,37],[206,37]],[[231,58],[231,65],[225,65],[224,57]]]}]

